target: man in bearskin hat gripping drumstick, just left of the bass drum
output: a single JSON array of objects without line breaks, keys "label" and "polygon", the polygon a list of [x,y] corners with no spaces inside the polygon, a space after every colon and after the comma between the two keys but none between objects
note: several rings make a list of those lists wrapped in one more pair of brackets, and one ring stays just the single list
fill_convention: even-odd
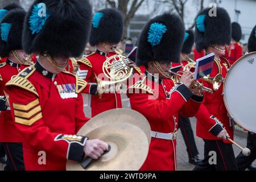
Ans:
[{"label": "man in bearskin hat gripping drumstick, just left of the bass drum", "polygon": [[[210,8],[200,11],[196,18],[195,42],[197,51],[205,49],[206,53],[215,53],[212,73],[215,77],[221,73],[226,76],[229,62],[225,59],[225,45],[230,43],[231,23],[229,14],[225,9],[217,7],[217,16],[209,16]],[[212,84],[203,81],[204,86],[213,89]],[[227,137],[233,139],[233,124],[230,122],[228,112],[222,97],[223,84],[213,94],[205,92],[204,104],[196,114],[196,134],[204,140],[204,159],[198,163],[194,170],[237,170],[236,158],[232,144]],[[209,163],[216,152],[216,163]]]}]

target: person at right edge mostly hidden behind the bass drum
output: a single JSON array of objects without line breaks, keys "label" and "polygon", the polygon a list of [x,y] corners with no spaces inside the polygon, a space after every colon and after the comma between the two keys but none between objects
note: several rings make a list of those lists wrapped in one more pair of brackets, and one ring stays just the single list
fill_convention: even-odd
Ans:
[{"label": "person at right edge mostly hidden behind the bass drum", "polygon": [[[253,28],[253,31],[251,31],[251,35],[248,40],[248,52],[256,51],[256,34],[255,34],[255,32],[256,32],[256,26]],[[256,167],[251,164],[256,159],[256,134],[251,134],[250,132],[248,132],[246,147],[251,150],[251,153],[249,156],[245,156],[242,154],[242,152],[240,152],[240,154],[237,156],[238,169],[243,171],[246,168],[248,168],[251,171],[256,171]]]}]

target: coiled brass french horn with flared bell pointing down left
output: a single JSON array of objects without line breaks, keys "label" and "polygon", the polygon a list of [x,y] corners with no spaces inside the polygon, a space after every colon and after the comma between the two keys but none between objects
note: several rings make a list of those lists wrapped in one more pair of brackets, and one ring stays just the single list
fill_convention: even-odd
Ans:
[{"label": "coiled brass french horn with flared bell pointing down left", "polygon": [[127,80],[134,71],[134,68],[129,66],[130,63],[131,61],[126,56],[123,56],[118,52],[117,55],[106,59],[102,65],[102,71],[110,81],[97,78],[98,93],[101,95],[110,85],[115,85]]}]

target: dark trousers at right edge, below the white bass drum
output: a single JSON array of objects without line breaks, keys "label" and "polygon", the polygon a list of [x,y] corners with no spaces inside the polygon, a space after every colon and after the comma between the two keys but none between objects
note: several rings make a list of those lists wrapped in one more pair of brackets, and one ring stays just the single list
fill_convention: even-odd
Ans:
[{"label": "dark trousers at right edge, below the white bass drum", "polygon": [[251,134],[248,132],[246,147],[251,150],[250,155],[245,156],[242,154],[242,152],[240,152],[240,154],[237,156],[237,166],[238,170],[240,171],[244,171],[256,159],[256,134]]}]

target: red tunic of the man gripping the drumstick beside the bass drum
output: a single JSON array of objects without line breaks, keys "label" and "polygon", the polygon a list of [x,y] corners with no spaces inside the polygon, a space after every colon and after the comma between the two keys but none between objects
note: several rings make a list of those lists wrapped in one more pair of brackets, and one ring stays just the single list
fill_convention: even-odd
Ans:
[{"label": "red tunic of the man gripping the drumstick beside the bass drum", "polygon": [[[218,73],[221,73],[222,77],[225,78],[227,73],[225,64],[228,64],[228,60],[224,57],[221,57],[221,62],[214,59],[213,70],[212,73],[210,73],[210,77],[215,77]],[[229,67],[229,65],[227,67]],[[203,84],[204,86],[213,89],[212,84],[209,82],[203,81]],[[233,138],[233,125],[229,122],[228,111],[224,104],[222,92],[223,83],[218,90],[213,91],[213,94],[204,92],[204,104],[201,104],[200,109],[196,114],[197,137],[208,140],[221,140],[221,138],[215,136],[225,127],[230,137]],[[228,140],[224,140],[224,142],[229,143]]]}]

